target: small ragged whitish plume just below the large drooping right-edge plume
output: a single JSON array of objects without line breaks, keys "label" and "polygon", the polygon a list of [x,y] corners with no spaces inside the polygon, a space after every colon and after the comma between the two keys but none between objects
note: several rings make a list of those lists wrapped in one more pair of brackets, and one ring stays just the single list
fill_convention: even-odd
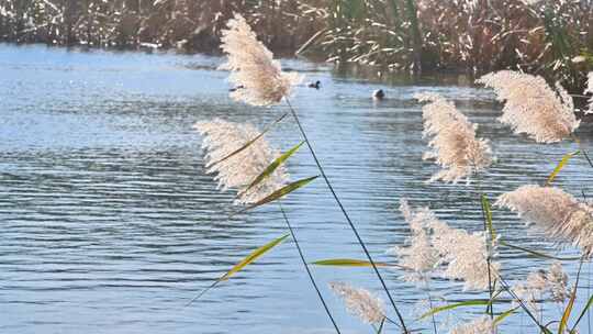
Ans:
[{"label": "small ragged whitish plume just below the large drooping right-edge plume", "polygon": [[537,301],[545,294],[548,294],[553,302],[560,304],[569,299],[568,276],[562,270],[560,263],[553,263],[548,270],[529,272],[524,282],[513,287],[513,292],[533,313],[538,313]]}]

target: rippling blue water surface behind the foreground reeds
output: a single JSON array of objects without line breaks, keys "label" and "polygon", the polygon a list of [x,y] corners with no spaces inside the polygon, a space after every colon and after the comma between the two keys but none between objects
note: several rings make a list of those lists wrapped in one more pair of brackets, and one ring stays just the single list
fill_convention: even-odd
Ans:
[{"label": "rippling blue water surface behind the foreground reeds", "polygon": [[[219,192],[204,174],[197,121],[224,118],[256,125],[277,119],[284,105],[251,108],[232,101],[222,59],[206,56],[79,52],[0,45],[0,333],[334,333],[291,242],[273,249],[203,299],[183,305],[254,248],[284,234],[276,205],[232,215],[233,193]],[[463,77],[376,80],[333,73],[298,60],[288,67],[321,80],[299,88],[292,103],[345,207],[377,260],[409,234],[399,199],[429,205],[449,224],[482,229],[478,185],[426,185],[436,167],[422,160],[421,107],[416,92],[439,92],[480,124],[497,163],[482,178],[491,197],[524,183],[542,183],[573,143],[537,145],[495,122],[493,94]],[[383,88],[385,101],[373,103]],[[593,146],[593,126],[579,130]],[[295,124],[270,135],[281,149],[300,141]],[[303,147],[304,148],[304,147]],[[593,151],[593,149],[591,149]],[[293,180],[317,175],[301,149],[288,166]],[[593,174],[582,158],[570,162],[558,186],[592,193]],[[309,260],[363,258],[359,245],[321,180],[284,201]],[[553,255],[575,255],[516,216],[494,212],[506,240]],[[501,248],[504,277],[521,281],[547,260]],[[578,263],[567,263],[574,281]],[[589,297],[590,265],[583,266],[580,311]],[[377,292],[368,268],[314,268],[343,333],[372,333],[350,316],[327,289],[347,281]],[[411,327],[426,291],[382,269]],[[434,280],[435,302],[486,298],[462,283]],[[497,311],[510,304],[497,304]],[[390,309],[388,309],[390,310]],[[472,313],[473,312],[473,313]],[[447,324],[471,319],[482,308],[444,313]],[[546,319],[561,310],[548,305]],[[577,312],[577,311],[575,311]],[[390,310],[391,318],[394,318]],[[589,333],[589,319],[581,333]],[[388,326],[385,333],[399,333]],[[501,333],[537,333],[518,313]]]}]

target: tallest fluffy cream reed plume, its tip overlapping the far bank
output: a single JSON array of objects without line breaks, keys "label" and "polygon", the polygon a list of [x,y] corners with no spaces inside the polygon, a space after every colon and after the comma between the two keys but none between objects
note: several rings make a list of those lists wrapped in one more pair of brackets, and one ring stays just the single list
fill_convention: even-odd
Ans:
[{"label": "tallest fluffy cream reed plume, its tip overlapping the far bank", "polygon": [[228,62],[222,67],[231,70],[228,80],[236,89],[231,97],[253,105],[270,105],[288,97],[292,86],[302,78],[295,73],[283,73],[272,53],[257,41],[247,21],[235,14],[222,32],[222,49]]}]

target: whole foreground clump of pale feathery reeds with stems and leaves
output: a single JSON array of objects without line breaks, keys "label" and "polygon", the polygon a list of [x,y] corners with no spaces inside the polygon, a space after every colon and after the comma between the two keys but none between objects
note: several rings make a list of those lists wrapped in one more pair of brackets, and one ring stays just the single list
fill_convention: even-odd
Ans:
[{"label": "whole foreground clump of pale feathery reeds with stems and leaves", "polygon": [[[332,310],[326,303],[329,290],[344,301],[345,309],[351,315],[369,325],[370,333],[416,333],[428,331],[426,329],[434,333],[499,333],[505,321],[518,314],[526,315],[538,333],[577,333],[579,323],[593,304],[593,297],[586,296],[589,301],[585,305],[579,310],[575,307],[579,293],[583,293],[579,286],[581,268],[584,261],[591,260],[593,254],[593,207],[553,182],[570,159],[586,159],[592,168],[593,164],[586,148],[582,147],[574,134],[580,122],[572,112],[572,98],[561,86],[552,88],[541,77],[516,71],[499,71],[481,77],[477,84],[484,85],[484,89],[493,88],[504,104],[501,123],[510,126],[517,135],[533,140],[534,145],[572,141],[581,145],[580,151],[562,157],[557,168],[550,170],[548,179],[541,180],[541,185],[524,185],[500,196],[493,205],[488,193],[470,192],[483,213],[480,221],[483,230],[480,232],[452,227],[430,208],[417,207],[404,198],[400,199],[400,210],[410,226],[410,235],[402,244],[385,249],[393,255],[392,261],[377,263],[367,248],[363,235],[358,232],[357,223],[351,220],[339,193],[334,190],[323,162],[315,154],[314,143],[309,140],[300,122],[298,111],[290,104],[292,87],[299,82],[295,79],[298,76],[281,68],[281,64],[273,59],[272,53],[257,38],[240,14],[235,14],[228,21],[223,36],[223,51],[228,55],[228,63],[223,67],[231,70],[230,80],[237,85],[234,91],[240,91],[232,93],[232,98],[240,103],[268,108],[286,103],[290,116],[279,114],[277,121],[262,130],[220,119],[197,123],[195,129],[204,138],[204,168],[214,175],[221,191],[236,191],[236,212],[245,213],[264,205],[277,208],[284,218],[287,233],[254,249],[243,259],[237,259],[235,266],[213,280],[188,305],[200,302],[200,298],[209,291],[215,293],[215,290],[211,290],[219,283],[231,280],[246,266],[257,265],[259,257],[272,252],[290,236],[336,333],[342,333],[344,329],[334,318],[334,313],[340,310]],[[457,182],[495,182],[481,177],[495,164],[495,152],[492,152],[488,138],[477,137],[475,125],[456,109],[454,102],[444,97],[418,94],[417,99],[424,103],[424,135],[428,140],[425,158],[435,160],[440,168],[427,180],[428,183],[448,182],[454,183],[454,189],[458,191],[468,191],[467,186]],[[302,142],[293,143],[291,149],[280,153],[268,142],[267,134],[277,131],[279,122],[289,120],[300,131]],[[318,175],[292,181],[288,176],[290,166],[287,162],[294,158],[294,153],[303,146],[313,157]],[[306,191],[306,186],[313,181],[325,182],[360,246],[361,258],[312,261],[304,257],[290,214],[283,210],[281,201],[294,191]],[[495,210],[516,212],[521,219],[532,223],[534,229],[540,230],[550,242],[573,245],[580,250],[580,256],[559,258],[510,243],[496,229],[499,222],[494,220]],[[547,259],[548,266],[533,268],[526,277],[511,280],[505,277],[504,265],[500,261],[500,253],[508,248]],[[564,261],[579,263],[575,277],[564,272]],[[374,274],[381,293],[342,281],[332,282],[324,289],[316,282],[315,266],[367,267]],[[401,301],[392,297],[385,285],[384,270],[395,270],[402,281],[417,283],[418,289],[426,292],[429,308],[413,319],[403,316],[400,311]],[[461,302],[445,300],[435,304],[429,288],[430,281],[435,279],[459,285],[463,290],[488,293],[489,298]],[[559,319],[542,311],[542,305],[548,303],[561,310]],[[454,324],[437,322],[436,316],[445,311],[459,313],[465,319],[470,316],[470,320]]]}]

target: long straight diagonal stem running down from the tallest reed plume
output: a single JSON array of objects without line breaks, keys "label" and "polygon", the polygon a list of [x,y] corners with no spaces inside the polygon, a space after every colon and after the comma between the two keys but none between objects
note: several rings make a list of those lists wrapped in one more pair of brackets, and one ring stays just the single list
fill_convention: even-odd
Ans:
[{"label": "long straight diagonal stem running down from the tallest reed plume", "polygon": [[365,252],[365,255],[369,259],[369,263],[371,264],[374,274],[379,278],[379,281],[381,282],[381,286],[383,287],[383,290],[385,291],[385,293],[387,293],[387,296],[389,298],[389,301],[390,301],[391,305],[393,307],[393,310],[395,311],[395,314],[398,315],[398,320],[402,324],[402,330],[404,331],[404,333],[409,333],[409,331],[407,331],[407,329],[405,326],[403,316],[400,313],[400,310],[398,309],[398,307],[395,305],[395,301],[393,300],[393,297],[389,292],[389,289],[388,289],[388,287],[385,285],[385,281],[383,280],[383,277],[381,276],[381,272],[379,272],[379,268],[374,264],[374,260],[372,259],[367,246],[365,245],[365,242],[362,242],[362,238],[360,237],[360,234],[358,233],[358,230],[356,229],[356,226],[354,225],[350,216],[348,215],[348,212],[346,212],[346,209],[344,208],[344,205],[342,204],[342,201],[339,200],[338,196],[336,194],[336,191],[334,190],[334,187],[332,187],[332,182],[329,182],[329,179],[327,178],[327,175],[325,174],[325,169],[323,169],[323,167],[322,167],[322,165],[320,163],[320,159],[317,158],[317,155],[315,154],[315,151],[313,149],[313,146],[311,145],[311,142],[309,141],[309,137],[307,137],[307,135],[306,135],[306,133],[305,133],[305,131],[304,131],[304,129],[303,129],[303,126],[301,124],[301,121],[299,120],[299,115],[296,114],[296,112],[292,108],[292,104],[290,103],[289,99],[286,98],[286,100],[287,100],[288,107],[290,108],[290,112],[292,113],[292,116],[294,118],[294,121],[296,122],[296,125],[299,126],[299,131],[301,132],[301,135],[303,136],[303,140],[305,141],[306,146],[309,147],[309,151],[311,152],[311,155],[313,156],[313,159],[315,160],[315,165],[317,165],[317,168],[320,169],[320,172],[321,172],[323,179],[325,180],[325,183],[327,185],[327,188],[329,189],[329,192],[332,193],[332,196],[336,200],[336,203],[338,204],[339,210],[342,211],[342,213],[346,218],[346,221],[348,222],[348,225],[353,230],[353,232],[354,232],[354,234],[355,234],[355,236],[356,236],[356,238],[358,241],[358,244],[360,245],[360,247],[362,247],[362,250]]}]

